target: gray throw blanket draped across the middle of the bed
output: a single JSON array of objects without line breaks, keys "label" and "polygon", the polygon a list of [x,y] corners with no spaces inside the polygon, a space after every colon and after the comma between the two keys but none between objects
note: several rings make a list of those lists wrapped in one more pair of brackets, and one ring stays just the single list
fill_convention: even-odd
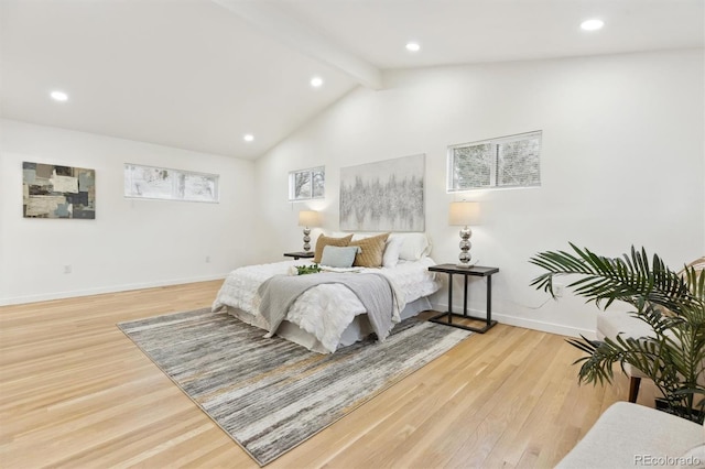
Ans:
[{"label": "gray throw blanket draped across the middle of the bed", "polygon": [[367,309],[372,330],[384,340],[392,329],[394,288],[389,280],[377,273],[317,273],[308,275],[274,275],[260,285],[260,314],[269,325],[271,337],[296,298],[316,285],[339,283],[357,295]]}]

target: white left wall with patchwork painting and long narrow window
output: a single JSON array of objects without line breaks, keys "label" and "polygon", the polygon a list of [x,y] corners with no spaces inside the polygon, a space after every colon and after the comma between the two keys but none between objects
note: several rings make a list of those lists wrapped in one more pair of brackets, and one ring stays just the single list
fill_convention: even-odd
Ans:
[{"label": "white left wall with patchwork painting and long narrow window", "polygon": [[[23,218],[23,161],[96,170],[96,219]],[[219,174],[220,203],[126,199],[128,162]],[[254,261],[252,179],[249,161],[2,120],[0,304],[224,277]]]}]

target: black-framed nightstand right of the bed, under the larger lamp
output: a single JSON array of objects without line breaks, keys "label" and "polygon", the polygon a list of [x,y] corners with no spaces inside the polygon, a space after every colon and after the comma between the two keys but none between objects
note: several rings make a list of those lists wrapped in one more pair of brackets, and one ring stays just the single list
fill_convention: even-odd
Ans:
[{"label": "black-framed nightstand right of the bed, under the larger lamp", "polygon": [[[442,272],[448,274],[448,310],[433,316],[429,320],[433,323],[444,324],[446,326],[458,327],[460,329],[471,330],[474,332],[485,334],[497,324],[492,320],[492,275],[499,272],[498,268],[484,268],[475,265],[471,268],[458,268],[455,264],[440,264],[430,266],[431,272]],[[453,313],[453,275],[463,275],[465,286],[463,288],[463,314]],[[467,277],[485,276],[487,277],[487,312],[485,317],[476,317],[467,314]],[[443,320],[443,317],[447,319]],[[453,318],[465,318],[485,321],[485,327],[471,327],[463,324],[453,323]]]}]

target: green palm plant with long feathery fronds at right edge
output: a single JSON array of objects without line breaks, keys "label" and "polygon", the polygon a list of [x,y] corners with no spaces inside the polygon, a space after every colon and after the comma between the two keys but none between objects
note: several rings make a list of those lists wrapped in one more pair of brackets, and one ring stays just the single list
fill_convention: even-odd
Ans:
[{"label": "green palm plant with long feathery fronds at right edge", "polygon": [[[702,423],[705,400],[705,274],[694,265],[669,269],[658,255],[631,248],[621,258],[598,255],[571,243],[572,252],[540,252],[529,260],[546,272],[531,285],[554,298],[554,279],[570,275],[567,285],[578,296],[607,309],[625,302],[631,314],[651,328],[649,337],[590,340],[582,336],[568,343],[586,356],[581,383],[611,383],[614,364],[629,363],[655,383],[668,412]],[[607,314],[610,314],[609,312]]]}]

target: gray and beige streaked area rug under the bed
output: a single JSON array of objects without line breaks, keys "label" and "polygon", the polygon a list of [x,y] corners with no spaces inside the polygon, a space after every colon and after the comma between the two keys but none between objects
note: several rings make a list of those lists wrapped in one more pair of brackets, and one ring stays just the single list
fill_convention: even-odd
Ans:
[{"label": "gray and beige streaked area rug under the bed", "polygon": [[319,355],[208,308],[118,327],[260,466],[471,334],[412,318]]}]

